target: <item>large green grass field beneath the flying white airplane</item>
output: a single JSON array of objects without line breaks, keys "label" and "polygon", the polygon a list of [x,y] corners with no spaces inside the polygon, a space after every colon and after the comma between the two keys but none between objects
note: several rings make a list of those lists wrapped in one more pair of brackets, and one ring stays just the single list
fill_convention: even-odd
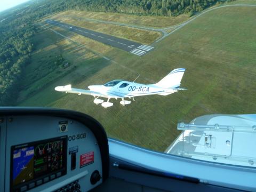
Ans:
[{"label": "large green grass field beneath the flying white airplane", "polygon": [[[46,54],[45,47],[52,47],[57,54],[62,52],[65,59],[75,63],[77,68],[68,74],[61,72],[65,76],[58,77],[37,93],[29,94],[20,106],[82,111],[96,118],[105,127],[108,137],[164,151],[178,136],[177,123],[180,121],[189,122],[197,116],[215,113],[255,113],[255,12],[256,7],[225,7],[207,12],[156,43],[154,51],[143,57],[115,48],[105,52],[104,55],[115,62],[98,56],[84,59],[74,45],[68,45],[66,40],[53,34],[46,34],[51,31],[42,31],[41,35],[45,34],[50,39],[45,42],[39,40],[42,36],[35,37],[39,45],[28,67],[39,65],[37,60],[41,59],[41,54],[36,56],[38,49]],[[62,46],[66,43],[65,49]],[[44,65],[43,60],[41,65]],[[186,68],[181,87],[186,87],[187,91],[167,96],[138,97],[126,107],[113,99],[110,101],[114,106],[103,109],[93,103],[93,97],[54,91],[55,86],[69,83],[86,89],[88,85],[103,84],[112,79],[133,81],[138,74],[137,82],[155,83],[171,70],[181,67]],[[27,76],[31,73],[28,71]],[[27,78],[24,81],[28,85]],[[38,81],[29,86],[35,86]],[[20,94],[24,92],[26,90]]]}]

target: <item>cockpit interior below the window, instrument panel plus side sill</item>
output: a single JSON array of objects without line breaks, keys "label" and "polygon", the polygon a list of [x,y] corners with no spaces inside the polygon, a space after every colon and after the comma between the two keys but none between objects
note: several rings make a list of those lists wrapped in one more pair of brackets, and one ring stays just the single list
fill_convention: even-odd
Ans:
[{"label": "cockpit interior below the window, instrument panel plus side sill", "polygon": [[254,180],[254,167],[108,139],[99,122],[77,111],[0,107],[1,192],[255,191]]}]

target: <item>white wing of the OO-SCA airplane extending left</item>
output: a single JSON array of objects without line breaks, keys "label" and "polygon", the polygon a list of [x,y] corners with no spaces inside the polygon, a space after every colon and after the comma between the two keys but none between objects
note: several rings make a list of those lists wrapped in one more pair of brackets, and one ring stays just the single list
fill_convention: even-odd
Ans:
[{"label": "white wing of the OO-SCA airplane extending left", "polygon": [[57,87],[55,87],[55,90],[60,91],[60,92],[66,92],[66,93],[76,93],[78,95],[85,94],[85,95],[93,95],[93,96],[100,96],[100,97],[108,96],[106,94],[102,94],[102,93],[96,92],[96,91],[76,89],[76,88],[71,87],[71,85],[57,86]]}]

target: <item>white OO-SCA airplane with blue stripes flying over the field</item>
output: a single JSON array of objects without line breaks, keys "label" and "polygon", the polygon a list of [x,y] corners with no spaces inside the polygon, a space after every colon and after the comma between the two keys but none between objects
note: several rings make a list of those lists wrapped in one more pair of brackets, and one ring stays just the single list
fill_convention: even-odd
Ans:
[{"label": "white OO-SCA airplane with blue stripes flying over the field", "polygon": [[[153,94],[169,95],[178,91],[186,90],[179,87],[184,72],[184,68],[174,69],[156,84],[145,85],[135,83],[135,80],[138,78],[137,77],[133,82],[113,80],[104,85],[90,85],[88,86],[90,90],[76,89],[71,87],[71,85],[57,86],[55,87],[55,90],[66,93],[76,93],[78,95],[93,95],[95,98],[93,102],[97,105],[101,103],[101,106],[105,108],[113,106],[113,103],[109,102],[111,98],[121,98],[122,101],[120,101],[120,103],[125,106],[130,104],[131,101],[124,100],[124,98],[133,98],[134,100],[134,97],[138,96]],[[107,102],[99,99],[100,97],[108,98]]]}]

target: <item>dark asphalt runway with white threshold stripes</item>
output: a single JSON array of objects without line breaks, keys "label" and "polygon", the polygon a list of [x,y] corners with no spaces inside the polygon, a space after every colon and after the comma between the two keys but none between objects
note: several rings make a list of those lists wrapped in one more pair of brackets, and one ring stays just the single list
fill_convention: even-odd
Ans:
[{"label": "dark asphalt runway with white threshold stripes", "polygon": [[54,21],[54,20],[50,20],[50,19],[47,19],[45,22],[49,23],[50,25],[58,26],[60,28],[72,31],[76,34],[91,38],[95,41],[98,41],[98,42],[101,42],[101,43],[104,43],[104,44],[107,44],[107,45],[110,45],[113,47],[117,47],[118,49],[130,52],[130,53],[138,55],[138,56],[142,56],[142,55],[146,54],[147,52],[154,49],[154,47],[152,47],[152,46],[143,45],[143,44],[140,44],[137,42],[127,40],[127,39],[118,38],[115,36],[99,33],[97,31],[93,31],[90,29],[72,26],[72,25],[69,25],[66,23],[62,23],[62,22],[58,22],[58,21]]}]

